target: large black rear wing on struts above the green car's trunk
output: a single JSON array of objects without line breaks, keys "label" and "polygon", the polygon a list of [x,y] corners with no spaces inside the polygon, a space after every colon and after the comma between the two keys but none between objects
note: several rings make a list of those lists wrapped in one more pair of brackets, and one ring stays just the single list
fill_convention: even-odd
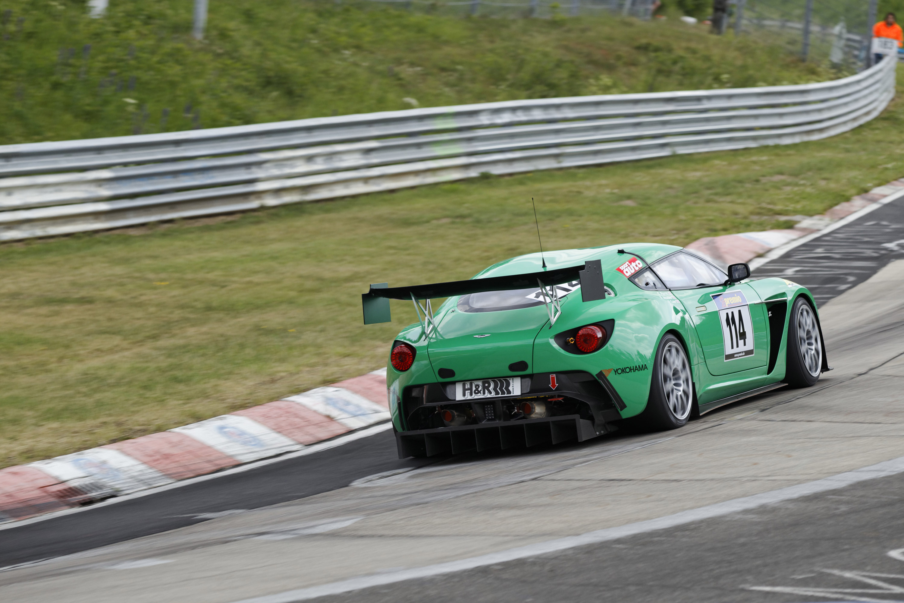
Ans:
[{"label": "large black rear wing on struts above the green car's trunk", "polygon": [[[580,297],[583,301],[596,301],[606,297],[602,262],[599,259],[591,259],[584,262],[583,266],[515,274],[507,277],[469,278],[468,280],[453,280],[447,283],[414,285],[412,287],[389,287],[388,283],[379,283],[371,285],[370,291],[361,295],[364,324],[373,325],[375,323],[391,322],[390,299],[409,299],[413,301],[415,306],[425,311],[428,316],[428,322],[431,322],[429,321],[431,318],[429,310],[430,299],[465,296],[485,291],[526,289],[529,287],[540,287],[544,291],[545,296],[549,297],[551,303],[558,309],[559,295],[555,286],[575,280],[580,281]],[[420,306],[418,300],[427,300],[427,307]],[[547,306],[549,304],[550,302],[547,302]],[[554,323],[555,319],[552,316],[551,320]]]}]

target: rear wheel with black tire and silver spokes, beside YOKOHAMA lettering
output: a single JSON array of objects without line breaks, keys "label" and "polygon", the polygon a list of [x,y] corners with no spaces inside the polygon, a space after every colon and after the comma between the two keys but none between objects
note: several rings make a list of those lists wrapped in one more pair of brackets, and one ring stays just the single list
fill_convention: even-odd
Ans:
[{"label": "rear wheel with black tire and silver spokes, beside YOKOHAMA lettering", "polygon": [[[667,374],[666,374],[667,373]],[[665,334],[656,348],[653,379],[646,409],[638,416],[646,429],[678,429],[694,410],[691,363],[684,346],[673,334]]]}]

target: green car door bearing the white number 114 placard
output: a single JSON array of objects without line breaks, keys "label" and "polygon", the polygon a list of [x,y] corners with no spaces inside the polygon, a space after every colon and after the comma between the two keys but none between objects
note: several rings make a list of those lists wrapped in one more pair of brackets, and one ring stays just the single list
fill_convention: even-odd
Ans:
[{"label": "green car door bearing the white number 114 placard", "polygon": [[759,296],[748,285],[673,291],[700,336],[713,375],[766,367],[767,324]]}]

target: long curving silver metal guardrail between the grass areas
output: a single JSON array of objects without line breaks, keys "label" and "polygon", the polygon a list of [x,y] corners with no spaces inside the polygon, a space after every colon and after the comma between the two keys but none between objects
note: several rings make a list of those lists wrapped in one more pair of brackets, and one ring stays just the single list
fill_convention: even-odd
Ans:
[{"label": "long curving silver metal guardrail between the grass areas", "polygon": [[879,115],[894,96],[896,64],[796,86],[515,100],[0,146],[0,240],[483,173],[831,137]]}]

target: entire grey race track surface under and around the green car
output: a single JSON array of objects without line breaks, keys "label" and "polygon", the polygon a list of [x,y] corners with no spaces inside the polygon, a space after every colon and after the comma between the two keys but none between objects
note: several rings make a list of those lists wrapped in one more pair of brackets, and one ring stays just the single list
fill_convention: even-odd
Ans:
[{"label": "entire grey race track surface under and around the green car", "polygon": [[[0,565],[69,556],[0,571],[0,600],[277,603],[318,585],[341,593],[325,600],[356,601],[904,600],[904,552],[889,554],[904,550],[904,473],[541,551],[904,456],[904,262],[893,259],[904,259],[901,200],[756,271],[822,304],[843,294],[821,313],[835,370],[814,388],[674,432],[526,453],[400,461],[384,431],[6,529]],[[403,579],[517,547],[535,554]],[[335,586],[359,576],[364,589]]]}]

